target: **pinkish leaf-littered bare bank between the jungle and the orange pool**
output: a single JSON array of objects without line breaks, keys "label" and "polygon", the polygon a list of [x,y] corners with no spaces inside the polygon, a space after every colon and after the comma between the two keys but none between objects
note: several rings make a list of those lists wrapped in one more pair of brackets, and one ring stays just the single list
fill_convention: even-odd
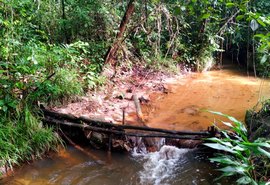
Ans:
[{"label": "pinkish leaf-littered bare bank between the jungle and the orange pool", "polygon": [[[141,66],[135,66],[129,70],[122,68],[118,71],[112,80],[94,91],[89,91],[77,101],[54,106],[51,109],[60,113],[98,118],[117,124],[122,123],[123,111],[125,111],[125,123],[143,125],[152,110],[152,102],[170,92],[167,84],[185,76],[180,73],[180,70],[178,74],[173,74]],[[142,119],[136,113],[134,95],[140,102]]]}]

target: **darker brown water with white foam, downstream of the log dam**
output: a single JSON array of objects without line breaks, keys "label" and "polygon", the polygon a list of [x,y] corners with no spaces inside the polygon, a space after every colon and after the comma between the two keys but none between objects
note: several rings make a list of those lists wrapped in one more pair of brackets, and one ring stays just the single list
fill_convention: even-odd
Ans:
[{"label": "darker brown water with white foam, downstream of the log dam", "polygon": [[[216,166],[196,150],[163,146],[160,152],[127,155],[91,150],[96,163],[73,147],[19,169],[7,185],[212,185]],[[221,184],[228,184],[225,180]]]}]

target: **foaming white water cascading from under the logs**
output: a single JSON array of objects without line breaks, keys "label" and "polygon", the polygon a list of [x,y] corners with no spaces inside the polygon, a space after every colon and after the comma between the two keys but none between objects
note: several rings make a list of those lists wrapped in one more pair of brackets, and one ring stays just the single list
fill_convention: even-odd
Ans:
[{"label": "foaming white water cascading from under the logs", "polygon": [[[141,143],[142,140],[140,140]],[[132,156],[138,157],[143,162],[143,169],[138,172],[140,184],[166,185],[173,179],[174,173],[178,169],[178,164],[188,149],[179,149],[165,144],[165,139],[156,140],[155,152],[147,152],[145,144],[135,147]],[[144,148],[141,148],[141,146]]]}]

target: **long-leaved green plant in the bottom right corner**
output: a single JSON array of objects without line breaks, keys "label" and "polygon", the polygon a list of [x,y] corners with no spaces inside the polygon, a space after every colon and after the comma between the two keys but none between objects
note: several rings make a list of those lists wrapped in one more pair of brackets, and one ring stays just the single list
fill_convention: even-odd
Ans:
[{"label": "long-leaved green plant in the bottom right corner", "polygon": [[232,122],[222,122],[231,131],[219,129],[222,138],[209,138],[207,141],[210,142],[204,144],[220,151],[217,157],[210,158],[212,162],[222,166],[219,169],[222,172],[220,178],[235,175],[238,177],[237,184],[254,185],[267,180],[268,166],[262,163],[270,159],[270,141],[257,139],[251,142],[243,123],[220,112],[210,112],[224,116]]}]

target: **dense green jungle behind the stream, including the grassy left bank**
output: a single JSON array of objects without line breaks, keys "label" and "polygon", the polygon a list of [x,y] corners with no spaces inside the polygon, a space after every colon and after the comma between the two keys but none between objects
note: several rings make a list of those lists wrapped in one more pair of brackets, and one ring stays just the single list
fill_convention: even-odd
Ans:
[{"label": "dense green jungle behind the stream, including the grassy left bank", "polygon": [[203,71],[224,56],[270,76],[268,0],[0,0],[0,166],[56,149],[38,106],[120,65]]}]

